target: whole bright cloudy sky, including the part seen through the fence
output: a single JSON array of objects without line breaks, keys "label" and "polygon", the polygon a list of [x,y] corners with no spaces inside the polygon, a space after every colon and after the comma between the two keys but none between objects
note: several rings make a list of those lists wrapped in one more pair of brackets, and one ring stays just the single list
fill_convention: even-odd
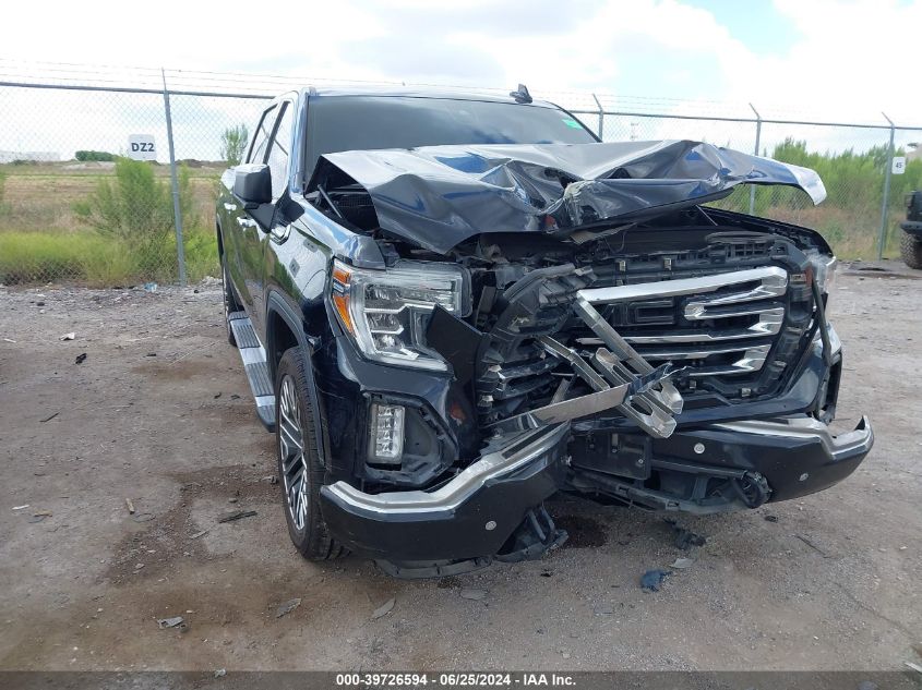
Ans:
[{"label": "whole bright cloudy sky, including the part seen through the fence", "polygon": [[[922,125],[922,0],[45,0],[5,8],[3,28],[0,81],[156,88],[164,66],[172,88],[226,92],[279,93],[311,80],[504,89],[523,82],[571,109],[594,109],[595,92],[608,95],[607,108],[628,112],[752,117],[752,102],[766,118],[885,124],[883,110]],[[123,146],[127,132],[165,138],[156,96],[0,96],[0,149],[67,156]],[[214,131],[251,122],[259,107],[179,102],[178,156],[215,157]],[[68,128],[52,117],[64,111]],[[582,117],[595,129],[595,116]],[[754,134],[750,123],[606,120],[608,140],[697,138],[752,150]],[[765,125],[761,150],[787,136],[815,150],[860,150],[886,144],[888,132]],[[896,143],[920,138],[903,131]]]}]

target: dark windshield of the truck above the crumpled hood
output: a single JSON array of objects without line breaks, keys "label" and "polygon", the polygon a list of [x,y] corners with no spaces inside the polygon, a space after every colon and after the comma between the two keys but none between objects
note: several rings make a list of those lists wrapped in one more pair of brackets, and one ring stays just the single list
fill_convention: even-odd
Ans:
[{"label": "dark windshield of the truck above the crumpled hood", "polygon": [[328,96],[311,99],[307,170],[323,154],[442,144],[590,144],[570,113],[547,106],[456,98]]}]

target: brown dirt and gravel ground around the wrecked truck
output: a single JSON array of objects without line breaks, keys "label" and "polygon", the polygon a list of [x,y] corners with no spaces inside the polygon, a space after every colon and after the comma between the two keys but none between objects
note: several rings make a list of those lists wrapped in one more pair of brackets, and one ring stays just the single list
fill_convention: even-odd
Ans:
[{"label": "brown dirt and gravel ground around the wrecked truck", "polygon": [[[831,295],[839,424],[866,412],[877,435],[855,474],[681,518],[708,542],[650,593],[645,570],[688,556],[663,517],[571,498],[550,506],[570,543],[537,562],[442,581],[309,564],[217,286],[0,288],[0,669],[905,670],[922,649],[920,293],[852,271]],[[217,522],[235,510],[258,515]],[[170,616],[188,629],[158,629]]]}]

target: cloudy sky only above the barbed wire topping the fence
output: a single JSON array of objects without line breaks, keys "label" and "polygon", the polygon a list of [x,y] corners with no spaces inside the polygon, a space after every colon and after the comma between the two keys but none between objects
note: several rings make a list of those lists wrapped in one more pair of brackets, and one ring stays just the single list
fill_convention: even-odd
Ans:
[{"label": "cloudy sky only above the barbed wire topping the fence", "polygon": [[[598,90],[922,120],[922,2],[16,2],[0,58]],[[10,71],[10,63],[4,70]],[[915,122],[918,123],[918,122]]]}]

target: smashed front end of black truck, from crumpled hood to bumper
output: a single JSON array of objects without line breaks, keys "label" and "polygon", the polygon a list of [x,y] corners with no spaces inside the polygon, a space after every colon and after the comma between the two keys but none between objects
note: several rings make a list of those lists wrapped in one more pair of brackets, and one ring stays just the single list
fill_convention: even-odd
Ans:
[{"label": "smashed front end of black truck, from crumpled hood to bumper", "polygon": [[[400,172],[405,152],[352,152],[319,168],[318,206],[373,237],[385,264],[337,262],[331,282],[328,414],[360,420],[333,439],[350,472],[321,491],[337,538],[395,574],[451,574],[559,545],[542,505],[558,491],[708,513],[855,469],[866,419],[828,426],[841,374],[828,245],[701,205],[738,182],[814,199],[822,183],[678,144],[607,159],[603,144],[468,150],[486,170],[450,147],[411,152],[429,174]],[[495,231],[468,231],[491,211]]]}]

